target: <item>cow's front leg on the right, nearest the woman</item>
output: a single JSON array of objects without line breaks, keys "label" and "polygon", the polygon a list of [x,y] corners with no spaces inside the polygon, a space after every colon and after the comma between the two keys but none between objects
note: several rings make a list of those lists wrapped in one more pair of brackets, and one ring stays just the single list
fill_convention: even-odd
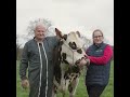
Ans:
[{"label": "cow's front leg on the right, nearest the woman", "polygon": [[73,80],[73,82],[72,82],[72,84],[69,86],[69,97],[75,96],[78,83],[79,83],[79,78],[76,78],[76,79]]}]

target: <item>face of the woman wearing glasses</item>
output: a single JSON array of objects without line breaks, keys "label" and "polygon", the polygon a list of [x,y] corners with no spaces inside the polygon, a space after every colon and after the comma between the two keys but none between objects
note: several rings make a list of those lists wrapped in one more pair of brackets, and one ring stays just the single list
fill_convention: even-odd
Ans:
[{"label": "face of the woman wearing glasses", "polygon": [[93,42],[100,44],[103,42],[103,34],[100,31],[95,31],[93,34]]}]

